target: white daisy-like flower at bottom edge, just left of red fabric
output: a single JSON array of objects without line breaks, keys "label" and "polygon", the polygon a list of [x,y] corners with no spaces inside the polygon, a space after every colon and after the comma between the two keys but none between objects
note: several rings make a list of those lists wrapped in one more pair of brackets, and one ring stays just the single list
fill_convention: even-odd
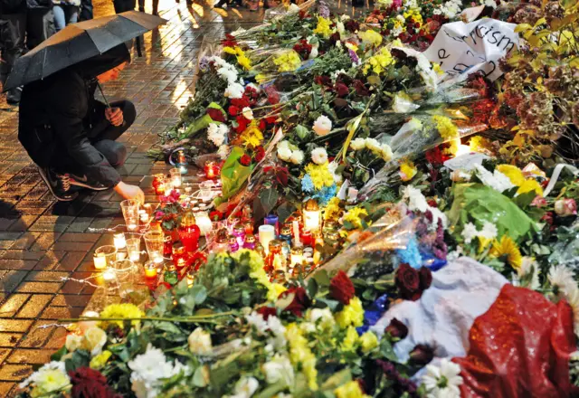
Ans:
[{"label": "white daisy-like flower at bottom edge, just left of red fabric", "polygon": [[422,384],[428,398],[460,398],[460,366],[444,358],[440,366],[426,365]]}]

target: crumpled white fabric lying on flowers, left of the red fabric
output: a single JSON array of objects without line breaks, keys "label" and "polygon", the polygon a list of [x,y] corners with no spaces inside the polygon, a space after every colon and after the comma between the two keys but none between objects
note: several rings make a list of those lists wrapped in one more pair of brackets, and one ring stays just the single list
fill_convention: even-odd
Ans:
[{"label": "crumpled white fabric lying on flowers, left of the red fabric", "polygon": [[408,327],[408,336],[394,345],[401,361],[418,344],[434,347],[436,358],[464,356],[474,319],[487,312],[506,283],[488,266],[460,257],[432,272],[432,285],[421,299],[394,304],[371,330],[382,336],[394,317]]}]

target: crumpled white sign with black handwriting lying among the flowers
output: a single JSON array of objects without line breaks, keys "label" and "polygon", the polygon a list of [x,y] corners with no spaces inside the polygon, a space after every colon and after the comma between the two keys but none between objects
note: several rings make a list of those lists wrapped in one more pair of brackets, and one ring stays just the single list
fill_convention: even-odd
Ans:
[{"label": "crumpled white sign with black handwriting lying among the flowers", "polygon": [[451,75],[466,76],[482,71],[489,80],[495,81],[503,74],[498,68],[498,60],[518,47],[516,26],[489,18],[468,24],[444,24],[423,53]]}]

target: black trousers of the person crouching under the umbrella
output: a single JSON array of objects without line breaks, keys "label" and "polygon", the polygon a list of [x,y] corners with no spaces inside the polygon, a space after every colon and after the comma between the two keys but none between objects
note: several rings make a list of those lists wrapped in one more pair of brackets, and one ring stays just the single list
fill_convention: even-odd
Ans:
[{"label": "black trousers of the person crouching under the umbrella", "polygon": [[[116,140],[133,124],[137,118],[137,110],[132,102],[128,100],[114,101],[110,103],[110,108],[120,108],[123,112],[123,124],[113,126],[105,117],[105,104],[96,101],[92,109],[91,123],[86,127],[86,134],[90,144],[95,147],[109,161],[110,166],[123,166],[127,159],[127,148]],[[83,173],[82,166],[69,156],[64,145],[58,145],[58,153],[52,156],[51,167],[60,174],[72,173],[80,175]]]}]

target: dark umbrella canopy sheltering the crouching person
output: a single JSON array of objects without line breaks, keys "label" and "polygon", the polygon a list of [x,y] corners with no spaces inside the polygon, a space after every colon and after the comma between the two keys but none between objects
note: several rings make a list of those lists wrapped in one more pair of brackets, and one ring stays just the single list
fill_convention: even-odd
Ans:
[{"label": "dark umbrella canopy sheltering the crouching person", "polygon": [[156,15],[128,11],[70,24],[20,57],[8,76],[4,90],[44,79],[165,23],[165,19]]}]

